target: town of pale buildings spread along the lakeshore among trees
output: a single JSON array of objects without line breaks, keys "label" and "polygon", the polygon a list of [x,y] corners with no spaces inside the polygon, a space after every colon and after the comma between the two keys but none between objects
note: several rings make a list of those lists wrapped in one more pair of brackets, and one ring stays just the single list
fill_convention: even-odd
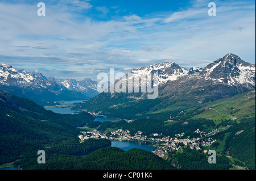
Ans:
[{"label": "town of pale buildings spread along the lakeshore among trees", "polygon": [[111,134],[105,134],[94,129],[93,131],[81,131],[82,134],[79,135],[80,142],[87,140],[89,138],[105,138],[115,141],[148,141],[150,145],[155,146],[157,149],[152,152],[163,157],[164,154],[169,151],[177,151],[181,146],[189,146],[191,149],[199,150],[201,146],[210,146],[216,140],[213,140],[209,136],[213,136],[218,132],[218,129],[213,129],[208,133],[202,132],[199,129],[195,131],[200,137],[191,138],[184,137],[184,133],[175,134],[175,137],[165,136],[162,137],[162,134],[153,133],[152,137],[144,136],[141,131],[138,131],[133,136],[131,136],[129,130],[118,129],[117,131],[111,132]]}]

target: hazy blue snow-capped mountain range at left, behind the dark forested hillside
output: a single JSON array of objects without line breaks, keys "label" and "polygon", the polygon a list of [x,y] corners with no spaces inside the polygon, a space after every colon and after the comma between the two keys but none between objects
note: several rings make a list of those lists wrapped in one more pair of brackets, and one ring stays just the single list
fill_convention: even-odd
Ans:
[{"label": "hazy blue snow-capped mountain range at left, behind the dark forested hillside", "polygon": [[84,100],[98,94],[97,81],[85,78],[57,79],[45,77],[39,71],[15,70],[11,65],[0,64],[0,89],[16,96],[44,105],[57,100]]}]

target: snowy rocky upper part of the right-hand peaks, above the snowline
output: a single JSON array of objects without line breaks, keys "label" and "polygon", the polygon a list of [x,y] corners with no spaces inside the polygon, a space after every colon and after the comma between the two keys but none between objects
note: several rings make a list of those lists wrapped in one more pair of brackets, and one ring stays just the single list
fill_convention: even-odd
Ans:
[{"label": "snowy rocky upper part of the right-hand peaks, above the snowline", "polygon": [[[162,64],[154,64],[133,69],[130,73],[130,77],[126,74],[127,79],[146,79],[145,76],[152,73],[158,73],[158,77],[156,77],[158,86],[173,81],[180,82],[185,79],[197,79],[205,85],[208,83],[210,85],[223,83],[230,86],[242,85],[250,88],[255,87],[255,64],[245,62],[232,53],[226,54],[226,56],[212,62],[204,69],[192,67],[187,70],[173,62],[164,62]],[[181,80],[177,81],[179,79]],[[122,79],[117,82],[121,84]]]}]

